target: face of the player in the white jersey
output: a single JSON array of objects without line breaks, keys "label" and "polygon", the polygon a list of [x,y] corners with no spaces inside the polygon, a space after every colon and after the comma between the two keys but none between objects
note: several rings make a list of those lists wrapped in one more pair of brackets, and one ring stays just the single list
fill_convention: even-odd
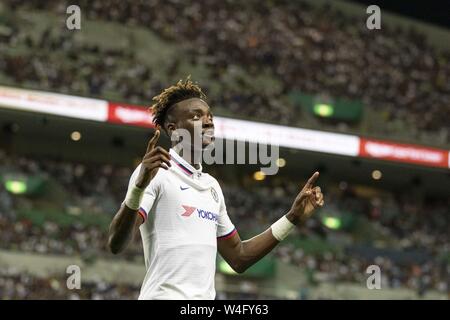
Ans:
[{"label": "face of the player in the white jersey", "polygon": [[[194,145],[194,137],[201,141],[202,149],[214,142],[213,115],[208,104],[199,98],[192,98],[177,103],[174,109],[176,127],[189,131]],[[198,139],[200,138],[200,139]]]}]

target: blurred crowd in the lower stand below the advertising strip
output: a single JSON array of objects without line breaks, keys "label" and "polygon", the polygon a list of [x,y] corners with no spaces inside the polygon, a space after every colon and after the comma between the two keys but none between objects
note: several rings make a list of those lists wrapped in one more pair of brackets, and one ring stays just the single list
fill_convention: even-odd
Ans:
[{"label": "blurred crowd in the lower stand below the advertising strip", "polygon": [[[130,168],[98,166],[48,159],[10,157],[0,152],[1,172],[19,176],[41,175],[71,195],[62,205],[61,214],[78,204],[82,210],[97,212],[110,220],[126,192]],[[83,168],[83,169],[80,169]],[[109,168],[109,169],[106,169]],[[219,176],[220,178],[220,176]],[[222,181],[222,180],[221,180]],[[222,181],[227,210],[242,235],[253,235],[267,228],[285,210],[296,194],[297,184],[289,179],[264,184],[248,184],[243,181]],[[366,221],[376,232],[357,238],[360,224],[331,230],[321,222],[321,213],[299,228],[294,237],[317,238],[330,244],[324,252],[308,253],[301,246],[291,243],[280,245],[275,254],[283,261],[310,270],[315,281],[361,281],[364,270],[370,264],[382,266],[385,284],[389,287],[408,287],[421,292],[436,289],[449,290],[450,266],[443,256],[448,254],[448,208],[444,200],[414,199],[403,195],[377,195],[370,198],[358,195],[356,188],[345,185],[325,190],[326,213],[342,216],[351,213],[352,219]],[[85,259],[110,258],[106,247],[107,226],[74,223],[59,225],[47,220],[35,225],[22,217],[20,210],[36,207],[35,197],[17,196],[0,186],[0,248],[36,252],[42,254],[81,255]],[[365,231],[364,231],[365,232]],[[361,237],[361,236],[360,236]],[[342,247],[334,250],[336,239],[350,238]],[[384,239],[397,254],[404,251],[418,252],[409,260],[401,261],[397,254],[378,251],[371,256],[361,256],[352,251],[360,244],[367,245]],[[400,254],[401,255],[401,254]],[[142,247],[137,237],[123,258],[142,262]]]}]

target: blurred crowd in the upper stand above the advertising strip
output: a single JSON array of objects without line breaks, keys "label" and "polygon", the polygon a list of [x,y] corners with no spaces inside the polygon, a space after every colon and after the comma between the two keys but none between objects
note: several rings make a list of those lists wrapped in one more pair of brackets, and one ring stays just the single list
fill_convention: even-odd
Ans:
[{"label": "blurred crowd in the upper stand above the advertising strip", "polygon": [[[57,14],[65,14],[69,5],[38,0],[6,3],[13,9]],[[296,125],[300,111],[286,97],[298,90],[362,100],[383,114],[386,125],[380,132],[398,131],[395,124],[401,122],[401,130],[407,129],[413,138],[434,132],[448,142],[450,56],[414,29],[383,25],[372,32],[365,21],[329,6],[315,8],[287,0],[78,4],[89,19],[143,26],[182,46],[184,54],[173,61],[169,76],[177,74],[181,59],[206,63],[222,88],[219,96],[211,97],[212,103],[233,114]],[[56,29],[32,39],[13,22],[7,30],[4,47],[20,43],[27,47],[23,53],[2,54],[0,72],[18,85],[94,96],[109,90],[144,104],[162,87],[131,49],[86,45],[74,33]],[[60,55],[48,54],[54,50]],[[269,74],[281,86],[260,92],[239,77],[238,69],[251,78]]]}]

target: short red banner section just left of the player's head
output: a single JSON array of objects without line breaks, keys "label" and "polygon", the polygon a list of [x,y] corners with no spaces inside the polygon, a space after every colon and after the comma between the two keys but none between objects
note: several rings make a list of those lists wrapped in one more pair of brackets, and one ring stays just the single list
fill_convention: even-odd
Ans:
[{"label": "short red banner section just left of the player's head", "polygon": [[140,106],[109,102],[108,122],[153,128],[150,112]]}]

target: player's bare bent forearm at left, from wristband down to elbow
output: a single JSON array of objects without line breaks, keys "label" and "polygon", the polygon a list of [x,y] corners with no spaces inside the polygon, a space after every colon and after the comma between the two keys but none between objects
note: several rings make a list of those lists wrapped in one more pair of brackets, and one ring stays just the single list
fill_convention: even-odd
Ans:
[{"label": "player's bare bent forearm at left, from wristband down to elbow", "polygon": [[134,226],[138,219],[136,210],[122,205],[109,227],[108,247],[112,253],[123,251],[133,238]]}]

